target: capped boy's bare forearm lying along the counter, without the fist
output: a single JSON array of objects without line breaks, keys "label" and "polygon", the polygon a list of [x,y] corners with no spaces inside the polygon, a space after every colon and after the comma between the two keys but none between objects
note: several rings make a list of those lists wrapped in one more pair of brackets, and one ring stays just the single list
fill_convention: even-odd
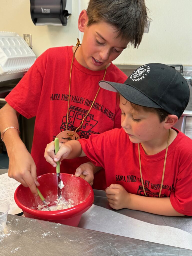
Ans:
[{"label": "capped boy's bare forearm lying along the counter, without the fist", "polygon": [[170,197],[157,198],[130,194],[130,200],[127,202],[127,206],[127,208],[132,210],[145,211],[158,215],[183,216],[183,214],[180,214],[173,208]]}]

